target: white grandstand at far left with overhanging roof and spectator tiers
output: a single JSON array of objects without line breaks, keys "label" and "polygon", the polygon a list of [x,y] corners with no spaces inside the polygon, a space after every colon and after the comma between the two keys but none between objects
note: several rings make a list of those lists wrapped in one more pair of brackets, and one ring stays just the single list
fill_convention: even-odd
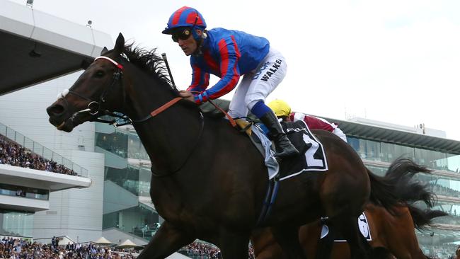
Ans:
[{"label": "white grandstand at far left with overhanging roof and spectator tiers", "polygon": [[[61,134],[47,125],[43,107],[69,81],[43,82],[79,71],[113,41],[86,25],[34,10],[25,1],[0,0],[0,6],[0,47],[5,50],[0,62],[0,134],[31,154],[21,162],[28,168],[17,161],[0,164],[0,234],[67,234],[76,241],[94,240],[102,229],[103,155],[94,152],[86,129]],[[43,93],[30,88],[35,84]],[[27,159],[37,158],[44,163],[28,165]],[[76,175],[37,170],[50,164]]]}]

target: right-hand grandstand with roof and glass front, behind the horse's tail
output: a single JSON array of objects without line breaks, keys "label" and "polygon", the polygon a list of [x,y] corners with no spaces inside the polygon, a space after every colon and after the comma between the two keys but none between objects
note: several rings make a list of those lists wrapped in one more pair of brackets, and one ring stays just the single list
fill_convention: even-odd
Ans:
[{"label": "right-hand grandstand with roof and glass front, behind the horse's tail", "polygon": [[[435,226],[418,231],[418,241],[426,255],[448,258],[447,244],[460,241],[460,142],[446,139],[445,132],[404,127],[363,118],[334,120],[347,135],[348,143],[374,173],[383,174],[398,157],[413,159],[432,169],[431,175],[417,175],[437,195],[435,209],[449,216],[435,219]],[[422,205],[420,205],[422,206]]]}]

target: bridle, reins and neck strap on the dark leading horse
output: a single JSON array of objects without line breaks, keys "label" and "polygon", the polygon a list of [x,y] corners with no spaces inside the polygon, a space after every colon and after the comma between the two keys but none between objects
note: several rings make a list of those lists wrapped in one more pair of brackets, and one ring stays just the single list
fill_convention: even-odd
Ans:
[{"label": "bridle, reins and neck strap on the dark leading horse", "polygon": [[[97,100],[97,101],[92,100],[91,98],[83,96],[80,93],[70,91],[68,89],[65,89],[62,93],[59,93],[59,95],[57,96],[58,99],[62,98],[64,100],[64,102],[66,102],[66,103],[68,103],[68,102],[67,102],[67,99],[65,97],[69,93],[74,95],[74,96],[78,96],[79,98],[82,98],[84,100],[88,100],[89,103],[86,106],[86,109],[79,110],[76,113],[74,113],[74,115],[72,115],[72,119],[76,115],[78,115],[80,113],[89,113],[90,115],[98,115],[98,117],[96,117],[96,119],[92,119],[90,121],[108,123],[109,125],[113,125],[114,127],[119,127],[119,126],[123,126],[123,125],[132,125],[134,123],[145,122],[146,120],[149,120],[150,118],[155,117],[156,115],[159,115],[164,110],[170,108],[172,105],[178,103],[178,101],[183,100],[182,97],[173,98],[172,100],[168,101],[167,103],[161,105],[159,108],[156,108],[155,110],[151,111],[151,113],[149,113],[149,115],[146,115],[145,117],[143,117],[140,120],[131,120],[131,118],[128,117],[127,115],[125,115],[125,114],[120,115],[118,113],[113,113],[110,110],[103,110],[103,109],[101,109],[100,104],[105,103],[105,100],[106,100],[106,97],[108,96],[108,93],[110,93],[110,91],[112,90],[113,86],[115,86],[115,84],[117,84],[117,82],[119,82],[119,81],[120,81],[119,84],[122,86],[122,89],[123,89],[123,105],[125,105],[126,93],[125,93],[125,88],[122,85],[122,81],[120,80],[120,79],[122,79],[124,67],[122,66],[122,64],[116,62],[115,60],[111,59],[110,57],[105,57],[105,56],[96,57],[93,62],[95,62],[98,59],[106,59],[109,62],[111,62],[112,64],[114,64],[115,67],[117,67],[117,71],[115,71],[113,73],[112,82],[110,83],[110,85],[108,87],[104,88],[103,93],[100,94],[99,100]],[[125,59],[127,59],[127,57],[125,57]],[[110,115],[110,116],[113,116],[113,117],[117,117],[117,118],[120,118],[122,120],[125,120],[125,122],[118,123],[117,120],[103,120],[103,119],[99,118],[99,117],[104,116],[104,115]],[[195,149],[197,148],[198,144],[200,143],[200,139],[201,139],[204,127],[205,127],[205,120],[204,120],[204,117],[203,117],[202,113],[200,112],[200,132],[198,133],[197,142],[192,147],[190,153],[185,158],[183,163],[180,163],[180,166],[178,166],[178,168],[176,168],[175,170],[168,171],[166,173],[156,172],[156,171],[154,171],[154,169],[152,167],[152,169],[151,169],[152,175],[154,175],[156,177],[171,175],[173,173],[178,172],[181,168],[183,168],[183,166],[185,166],[185,163],[187,163],[188,159],[190,159],[190,156],[192,155],[193,151],[195,151]]]}]

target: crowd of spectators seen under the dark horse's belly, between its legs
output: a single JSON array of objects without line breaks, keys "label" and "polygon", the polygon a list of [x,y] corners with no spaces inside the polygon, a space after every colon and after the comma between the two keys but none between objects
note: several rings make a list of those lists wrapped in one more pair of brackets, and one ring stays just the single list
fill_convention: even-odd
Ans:
[{"label": "crowd of spectators seen under the dark horse's belly, between its legs", "polygon": [[[193,259],[219,259],[222,258],[219,248],[208,243],[195,241],[188,246],[184,246],[179,253],[187,255]],[[254,249],[249,245],[249,259],[254,259]]]}]

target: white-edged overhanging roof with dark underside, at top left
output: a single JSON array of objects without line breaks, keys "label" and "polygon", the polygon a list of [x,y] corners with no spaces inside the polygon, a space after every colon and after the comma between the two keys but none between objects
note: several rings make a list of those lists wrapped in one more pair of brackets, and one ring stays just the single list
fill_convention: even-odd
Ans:
[{"label": "white-edged overhanging roof with dark underside, at top left", "polygon": [[78,71],[113,46],[110,35],[86,25],[8,0],[0,6],[0,95]]}]

